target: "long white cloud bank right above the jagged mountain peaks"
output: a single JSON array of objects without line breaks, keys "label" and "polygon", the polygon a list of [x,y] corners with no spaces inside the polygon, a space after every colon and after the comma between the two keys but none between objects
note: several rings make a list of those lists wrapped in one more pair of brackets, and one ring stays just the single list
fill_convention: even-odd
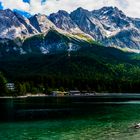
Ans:
[{"label": "long white cloud bank right above the jagged mountain peaks", "polygon": [[116,6],[123,10],[128,16],[140,17],[140,1],[138,0],[30,0],[24,3],[23,0],[0,0],[4,8],[24,10],[31,14],[50,14],[58,10],[71,12],[78,7],[88,10],[99,9],[103,6]]}]

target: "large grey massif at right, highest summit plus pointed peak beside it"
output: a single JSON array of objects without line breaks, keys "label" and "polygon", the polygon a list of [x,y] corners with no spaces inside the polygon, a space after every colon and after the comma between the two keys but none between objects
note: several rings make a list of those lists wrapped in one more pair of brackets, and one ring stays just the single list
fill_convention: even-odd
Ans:
[{"label": "large grey massif at right, highest summit plus pointed peak beside it", "polygon": [[78,8],[71,18],[82,31],[105,46],[140,49],[140,19],[127,17],[116,7],[91,12]]}]

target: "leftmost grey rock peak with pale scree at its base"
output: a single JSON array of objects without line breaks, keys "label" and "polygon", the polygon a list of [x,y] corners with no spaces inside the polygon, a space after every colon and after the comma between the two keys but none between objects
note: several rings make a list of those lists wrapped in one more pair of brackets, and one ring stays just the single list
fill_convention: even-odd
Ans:
[{"label": "leftmost grey rock peak with pale scree at its base", "polygon": [[10,9],[0,10],[0,38],[23,38],[36,33],[27,18],[22,18]]}]

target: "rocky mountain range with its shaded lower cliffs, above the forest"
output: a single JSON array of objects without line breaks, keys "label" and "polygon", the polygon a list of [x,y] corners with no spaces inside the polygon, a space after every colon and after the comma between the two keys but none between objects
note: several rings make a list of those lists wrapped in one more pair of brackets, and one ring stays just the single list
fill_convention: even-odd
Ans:
[{"label": "rocky mountain range with its shaded lower cliffs, above the forest", "polygon": [[117,7],[30,18],[0,10],[0,56],[72,51],[92,44],[140,52],[139,29],[140,19],[127,17]]}]

